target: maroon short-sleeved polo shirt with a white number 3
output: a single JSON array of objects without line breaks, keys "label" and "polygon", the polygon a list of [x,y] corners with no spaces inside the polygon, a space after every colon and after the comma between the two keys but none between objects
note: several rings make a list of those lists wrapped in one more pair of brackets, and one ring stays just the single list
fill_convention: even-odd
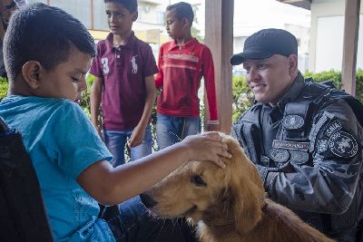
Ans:
[{"label": "maroon short-sleeved polo shirt with a white number 3", "polygon": [[108,131],[130,131],[141,120],[146,99],[145,77],[158,73],[152,48],[129,37],[113,46],[113,34],[97,44],[90,73],[103,80],[103,126]]}]

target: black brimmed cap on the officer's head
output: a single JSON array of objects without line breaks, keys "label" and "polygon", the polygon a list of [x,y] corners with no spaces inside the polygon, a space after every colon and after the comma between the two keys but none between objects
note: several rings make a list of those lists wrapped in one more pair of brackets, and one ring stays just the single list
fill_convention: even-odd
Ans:
[{"label": "black brimmed cap on the officer's head", "polygon": [[237,65],[246,59],[262,60],[274,54],[289,56],[291,53],[298,54],[298,41],[294,35],[283,29],[262,29],[246,39],[243,52],[233,54],[231,64]]}]

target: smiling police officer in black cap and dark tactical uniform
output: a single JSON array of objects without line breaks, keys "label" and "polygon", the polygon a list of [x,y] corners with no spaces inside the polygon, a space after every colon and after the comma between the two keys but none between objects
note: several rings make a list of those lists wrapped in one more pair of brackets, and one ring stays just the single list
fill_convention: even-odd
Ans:
[{"label": "smiling police officer in black cap and dark tactical uniform", "polygon": [[243,53],[231,57],[231,64],[241,63],[255,102],[232,134],[257,165],[269,197],[329,237],[360,241],[361,103],[304,80],[297,40],[287,31],[252,34]]}]

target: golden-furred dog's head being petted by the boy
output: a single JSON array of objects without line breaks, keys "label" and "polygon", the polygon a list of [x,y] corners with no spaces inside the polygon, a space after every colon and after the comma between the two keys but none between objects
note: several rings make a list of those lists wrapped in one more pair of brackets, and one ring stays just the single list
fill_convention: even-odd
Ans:
[{"label": "golden-furred dog's head being petted by the boy", "polygon": [[231,160],[222,158],[226,169],[208,161],[186,162],[142,194],[145,206],[162,218],[232,219],[240,233],[255,227],[264,195],[259,172],[237,140],[221,136],[232,154]]}]

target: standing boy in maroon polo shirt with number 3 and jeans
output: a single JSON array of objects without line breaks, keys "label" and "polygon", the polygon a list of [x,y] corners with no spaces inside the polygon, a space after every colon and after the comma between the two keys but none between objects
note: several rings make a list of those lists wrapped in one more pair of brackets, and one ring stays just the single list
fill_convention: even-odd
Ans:
[{"label": "standing boy in maroon polo shirt with number 3 and jeans", "polygon": [[152,153],[150,116],[155,101],[153,75],[158,72],[152,48],[136,38],[132,23],[137,19],[136,0],[104,0],[111,33],[97,44],[90,73],[91,115],[98,131],[100,104],[103,140],[113,154],[113,166],[124,163],[130,139],[131,160]]}]

